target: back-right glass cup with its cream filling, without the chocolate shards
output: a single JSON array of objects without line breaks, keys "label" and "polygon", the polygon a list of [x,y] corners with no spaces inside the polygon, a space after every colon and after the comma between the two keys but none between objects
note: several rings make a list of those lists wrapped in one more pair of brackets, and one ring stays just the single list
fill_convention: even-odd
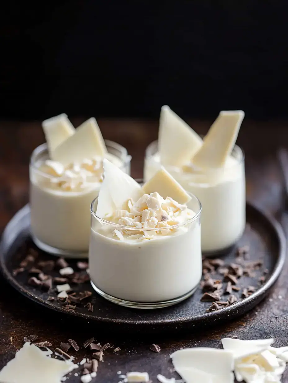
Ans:
[{"label": "back-right glass cup with its cream filling, without the chocolate shards", "polygon": [[[246,224],[244,152],[235,146],[228,164],[221,169],[166,167],[168,172],[193,193],[202,204],[201,247],[205,255],[227,251],[242,236]],[[158,141],[146,149],[144,181],[161,167]]]}]

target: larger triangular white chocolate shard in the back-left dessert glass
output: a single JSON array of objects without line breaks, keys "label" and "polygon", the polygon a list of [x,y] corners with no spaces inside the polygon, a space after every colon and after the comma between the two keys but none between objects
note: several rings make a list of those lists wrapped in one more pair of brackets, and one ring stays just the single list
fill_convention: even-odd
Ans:
[{"label": "larger triangular white chocolate shard in the back-left dessert glass", "polygon": [[70,136],[53,153],[53,160],[64,166],[72,162],[81,163],[85,159],[103,158],[106,146],[95,118],[89,118],[81,124],[73,136]]}]

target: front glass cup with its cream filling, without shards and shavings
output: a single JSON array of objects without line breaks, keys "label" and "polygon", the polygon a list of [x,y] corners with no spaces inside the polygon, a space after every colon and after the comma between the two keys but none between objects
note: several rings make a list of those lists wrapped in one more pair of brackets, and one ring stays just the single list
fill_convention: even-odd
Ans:
[{"label": "front glass cup with its cream filling, without shards and shavings", "polygon": [[[162,235],[167,228],[160,228],[153,239],[129,242],[114,239],[112,232],[129,229],[137,234],[142,230],[96,216],[95,198],[91,203],[89,276],[99,295],[122,306],[151,309],[171,306],[194,293],[202,275],[201,204],[191,197],[187,205],[195,216],[171,226],[176,229],[172,235]],[[155,229],[145,229],[148,234],[151,231]]]}]

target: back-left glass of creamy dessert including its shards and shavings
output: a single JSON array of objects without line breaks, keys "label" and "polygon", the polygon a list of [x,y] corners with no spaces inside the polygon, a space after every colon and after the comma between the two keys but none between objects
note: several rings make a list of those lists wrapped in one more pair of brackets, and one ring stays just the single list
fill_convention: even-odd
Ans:
[{"label": "back-left glass of creamy dessert including its shards and shavings", "polygon": [[62,114],[43,121],[47,144],[30,162],[31,235],[52,254],[88,257],[90,205],[103,182],[103,159],[130,173],[124,147],[104,142],[94,118],[74,128]]}]

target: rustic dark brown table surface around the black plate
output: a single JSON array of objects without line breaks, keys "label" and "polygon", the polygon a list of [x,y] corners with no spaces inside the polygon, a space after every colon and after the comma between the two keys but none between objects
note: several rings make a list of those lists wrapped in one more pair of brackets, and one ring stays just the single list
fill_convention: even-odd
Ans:
[{"label": "rustic dark brown table surface around the black plate", "polygon": [[[74,120],[73,123],[82,122]],[[99,120],[104,138],[125,146],[132,155],[133,177],[142,177],[143,156],[146,146],[157,138],[157,121]],[[190,121],[198,133],[205,133],[212,121]],[[283,183],[277,162],[277,150],[288,146],[288,121],[249,121],[242,124],[238,144],[246,153],[247,199],[280,220],[288,235],[288,218],[284,211]],[[0,122],[0,229],[28,202],[28,164],[32,150],[44,142],[39,122]],[[153,382],[158,373],[171,374],[169,354],[181,347],[221,347],[221,337],[238,336],[240,339],[273,337],[275,346],[288,345],[288,262],[270,295],[259,306],[238,320],[212,327],[209,331],[176,333],[159,336],[141,336],[111,333],[95,324],[70,322],[66,316],[31,303],[0,280],[0,368],[15,351],[22,347],[23,337],[36,334],[38,340],[48,340],[52,349],[60,342],[75,339],[78,344],[90,337],[101,343],[120,347],[119,353],[105,351],[104,362],[99,364],[96,381],[120,381],[117,372],[148,372]],[[9,340],[12,337],[12,344]],[[159,344],[159,354],[149,349]],[[85,353],[74,353],[76,362]],[[69,381],[79,382],[74,374]],[[288,373],[283,376],[288,381]]]}]

